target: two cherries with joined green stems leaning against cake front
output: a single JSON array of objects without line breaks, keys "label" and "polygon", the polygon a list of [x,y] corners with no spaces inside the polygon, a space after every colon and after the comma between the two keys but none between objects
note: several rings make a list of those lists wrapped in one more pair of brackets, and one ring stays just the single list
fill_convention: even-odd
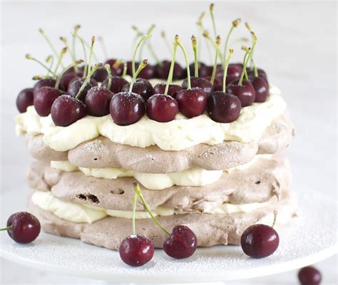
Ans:
[{"label": "two cherries with joined green stems leaning against cake front", "polygon": [[154,246],[153,242],[147,237],[136,234],[135,229],[135,209],[137,199],[139,198],[143,204],[143,207],[147,210],[151,219],[157,224],[157,226],[168,235],[168,239],[165,239],[163,243],[163,250],[168,256],[175,259],[185,259],[191,257],[197,247],[197,238],[194,232],[184,225],[178,225],[173,228],[173,231],[168,232],[165,227],[160,224],[158,219],[155,218],[153,212],[148,207],[147,202],[142,195],[140,186],[137,182],[133,184],[134,187],[134,203],[133,203],[133,231],[132,235],[127,237],[121,242],[119,249],[121,259],[131,266],[141,266],[153,258]]}]

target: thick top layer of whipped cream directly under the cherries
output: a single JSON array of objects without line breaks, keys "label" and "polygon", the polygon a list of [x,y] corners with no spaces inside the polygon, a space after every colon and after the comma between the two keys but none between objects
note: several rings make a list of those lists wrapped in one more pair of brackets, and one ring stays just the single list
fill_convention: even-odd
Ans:
[{"label": "thick top layer of whipped cream directly under the cherries", "polygon": [[254,103],[242,108],[240,117],[232,123],[217,123],[207,114],[186,118],[178,114],[175,120],[158,123],[143,116],[133,125],[120,126],[111,115],[96,118],[87,115],[68,127],[54,125],[51,115],[40,117],[34,106],[16,116],[16,133],[43,134],[43,142],[53,150],[66,151],[99,135],[112,142],[135,147],[158,145],[162,150],[185,150],[200,143],[217,145],[225,140],[251,142],[258,140],[267,126],[284,113],[286,103],[280,90],[270,86],[265,103]]}]

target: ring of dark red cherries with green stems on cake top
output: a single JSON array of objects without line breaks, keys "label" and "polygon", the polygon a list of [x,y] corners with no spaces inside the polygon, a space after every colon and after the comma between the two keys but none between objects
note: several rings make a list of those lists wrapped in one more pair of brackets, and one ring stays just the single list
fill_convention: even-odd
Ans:
[{"label": "ring of dark red cherries with green stems on cake top", "polygon": [[[178,36],[175,36],[172,50],[170,47],[173,59],[160,61],[155,54],[154,46],[150,43],[151,33],[155,28],[155,25],[152,25],[147,33],[138,30],[137,38],[140,40],[135,45],[131,61],[108,58],[104,68],[101,65],[93,71],[95,65],[92,65],[92,61],[96,58],[93,47],[96,39],[93,36],[91,44],[87,43],[78,32],[79,26],[75,26],[72,42],[81,43],[84,62],[81,64],[77,60],[75,49],[72,49],[65,37],[61,37],[65,47],[60,53],[55,53],[54,66],[52,64],[48,66],[39,59],[26,55],[29,60],[43,66],[46,74],[34,76],[34,79],[38,80],[34,88],[26,88],[19,93],[16,99],[17,108],[20,113],[24,113],[29,106],[34,105],[36,113],[41,116],[51,115],[57,126],[71,125],[86,115],[101,117],[108,114],[111,114],[113,121],[118,125],[136,123],[144,115],[148,115],[151,120],[165,123],[175,120],[178,113],[188,118],[207,114],[218,123],[237,120],[241,108],[252,103],[265,102],[269,94],[267,76],[265,71],[255,65],[253,50],[257,37],[248,24],[245,26],[252,34],[252,46],[246,49],[242,63],[227,62],[225,67],[230,34],[239,26],[240,19],[232,21],[222,53],[215,19],[213,14],[211,16],[215,42],[205,28],[203,34],[206,43],[215,50],[213,66],[203,63],[198,58],[198,47],[202,39],[195,36],[191,38],[195,58],[193,63],[189,64],[188,56]],[[201,23],[198,23],[198,26],[200,28]],[[40,30],[40,33],[46,38],[44,31]],[[51,45],[51,41],[48,40],[48,44]],[[186,68],[175,62],[175,46],[183,50]],[[147,47],[156,63],[143,66],[131,84],[126,76],[127,74],[135,76],[135,70],[143,64],[135,58]],[[53,46],[52,49],[56,51]],[[69,54],[72,64],[60,72],[61,67],[64,68],[63,58],[66,53]],[[51,56],[48,57],[48,63],[50,59]],[[152,78],[166,79],[166,83],[152,86],[149,81]],[[173,83],[178,79],[183,79],[181,86]]]}]

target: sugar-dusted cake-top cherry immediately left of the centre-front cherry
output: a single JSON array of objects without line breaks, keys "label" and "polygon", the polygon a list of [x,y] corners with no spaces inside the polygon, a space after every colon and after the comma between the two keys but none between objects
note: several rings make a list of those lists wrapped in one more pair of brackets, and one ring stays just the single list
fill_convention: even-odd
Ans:
[{"label": "sugar-dusted cake-top cherry immediately left of the centre-front cherry", "polygon": [[145,102],[137,93],[120,92],[111,98],[110,112],[117,125],[131,125],[145,114]]}]

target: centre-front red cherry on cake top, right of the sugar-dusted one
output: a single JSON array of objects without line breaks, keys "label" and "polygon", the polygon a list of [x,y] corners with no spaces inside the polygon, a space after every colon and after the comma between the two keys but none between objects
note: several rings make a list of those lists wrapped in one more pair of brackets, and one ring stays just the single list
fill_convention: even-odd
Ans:
[{"label": "centre-front red cherry on cake top, right of the sugar-dusted one", "polygon": [[146,104],[147,115],[160,123],[170,122],[178,113],[178,101],[169,95],[155,94]]}]

